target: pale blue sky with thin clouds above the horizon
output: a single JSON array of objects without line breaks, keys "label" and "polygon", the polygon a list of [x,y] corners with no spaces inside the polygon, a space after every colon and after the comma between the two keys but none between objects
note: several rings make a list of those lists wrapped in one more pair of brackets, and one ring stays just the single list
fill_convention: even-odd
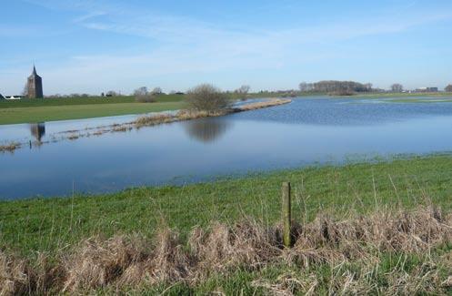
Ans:
[{"label": "pale blue sky with thin clouds above the horizon", "polygon": [[450,0],[0,0],[0,93],[452,83]]}]

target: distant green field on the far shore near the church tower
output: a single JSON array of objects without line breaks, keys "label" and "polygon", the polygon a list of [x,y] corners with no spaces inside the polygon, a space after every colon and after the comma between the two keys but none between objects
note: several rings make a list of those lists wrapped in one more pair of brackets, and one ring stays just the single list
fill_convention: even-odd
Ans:
[{"label": "distant green field on the far shore near the church tower", "polygon": [[70,97],[0,101],[0,125],[89,117],[109,117],[176,110],[184,96],[157,97],[156,103],[136,103],[134,97]]}]

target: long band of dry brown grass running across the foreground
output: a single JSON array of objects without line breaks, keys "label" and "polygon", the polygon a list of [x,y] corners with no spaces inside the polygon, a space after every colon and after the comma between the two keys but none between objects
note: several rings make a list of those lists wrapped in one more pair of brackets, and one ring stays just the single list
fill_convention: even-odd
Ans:
[{"label": "long band of dry brown grass running across the foreground", "polygon": [[[306,225],[294,225],[295,245],[290,250],[281,247],[280,232],[277,225],[245,220],[232,226],[216,222],[207,230],[195,228],[188,246],[168,229],[152,241],[137,235],[91,238],[60,255],[53,268],[44,256],[32,266],[0,252],[0,295],[122,291],[177,282],[196,286],[215,272],[226,276],[239,268],[262,270],[275,264],[296,266],[302,272],[253,281],[255,287],[272,294],[315,294],[325,279],[312,270],[322,264],[329,266],[327,286],[333,294],[440,293],[452,285],[452,277],[440,272],[444,267],[452,270],[452,254],[439,260],[430,255],[435,248],[452,243],[452,217],[434,207],[411,212],[381,210],[346,220],[319,215]],[[388,253],[427,254],[427,259],[409,272],[402,268],[405,263],[397,263],[385,274],[387,284],[379,287],[372,277],[382,254]],[[358,271],[347,268],[350,264],[358,266]]]}]

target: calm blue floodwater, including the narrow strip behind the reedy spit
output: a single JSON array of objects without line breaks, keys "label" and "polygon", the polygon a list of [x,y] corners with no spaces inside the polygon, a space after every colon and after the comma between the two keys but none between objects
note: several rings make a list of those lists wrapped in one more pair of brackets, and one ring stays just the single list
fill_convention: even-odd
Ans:
[{"label": "calm blue floodwater, including the narrow strip behind the reedy spit", "polygon": [[[20,148],[0,153],[0,199],[113,192],[314,163],[451,151],[452,103],[431,100],[299,98],[226,117]],[[0,143],[51,140],[65,130],[135,117],[0,126]]]}]

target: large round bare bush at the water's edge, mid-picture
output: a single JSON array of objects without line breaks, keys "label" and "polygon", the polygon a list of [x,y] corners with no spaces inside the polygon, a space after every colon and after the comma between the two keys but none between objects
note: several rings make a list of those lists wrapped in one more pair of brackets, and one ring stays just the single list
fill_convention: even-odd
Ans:
[{"label": "large round bare bush at the water's edge, mid-picture", "polygon": [[196,110],[215,111],[230,105],[229,97],[219,88],[210,84],[202,84],[190,89],[186,101]]}]

